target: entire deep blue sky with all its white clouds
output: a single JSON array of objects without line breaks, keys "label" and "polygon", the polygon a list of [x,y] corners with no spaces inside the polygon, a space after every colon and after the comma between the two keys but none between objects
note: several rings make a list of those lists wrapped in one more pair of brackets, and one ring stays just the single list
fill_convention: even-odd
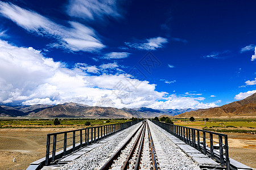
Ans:
[{"label": "entire deep blue sky with all its white clouds", "polygon": [[256,1],[1,1],[0,103],[209,108],[256,92]]}]

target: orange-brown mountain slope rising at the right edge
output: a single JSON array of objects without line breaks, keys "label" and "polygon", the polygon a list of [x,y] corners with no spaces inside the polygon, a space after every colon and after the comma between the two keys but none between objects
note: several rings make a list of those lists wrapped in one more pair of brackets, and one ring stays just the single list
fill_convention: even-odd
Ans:
[{"label": "orange-brown mountain slope rising at the right edge", "polygon": [[185,112],[177,117],[220,117],[220,116],[256,116],[256,93],[240,101],[234,101],[221,107],[198,109],[197,111]]}]

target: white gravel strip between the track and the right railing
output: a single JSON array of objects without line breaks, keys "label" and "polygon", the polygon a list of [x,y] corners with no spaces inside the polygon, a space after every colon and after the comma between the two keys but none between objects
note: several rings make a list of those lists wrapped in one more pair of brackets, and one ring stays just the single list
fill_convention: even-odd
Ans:
[{"label": "white gravel strip between the track and the right railing", "polygon": [[159,169],[200,169],[199,165],[177,148],[166,135],[162,133],[155,124],[148,121],[152,139],[155,146],[156,162]]}]

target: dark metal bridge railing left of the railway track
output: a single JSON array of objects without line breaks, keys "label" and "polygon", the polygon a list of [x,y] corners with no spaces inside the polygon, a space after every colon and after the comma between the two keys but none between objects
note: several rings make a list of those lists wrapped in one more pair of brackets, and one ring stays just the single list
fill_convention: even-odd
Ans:
[{"label": "dark metal bridge railing left of the railway track", "polygon": [[47,134],[46,165],[135,124],[137,121]]}]

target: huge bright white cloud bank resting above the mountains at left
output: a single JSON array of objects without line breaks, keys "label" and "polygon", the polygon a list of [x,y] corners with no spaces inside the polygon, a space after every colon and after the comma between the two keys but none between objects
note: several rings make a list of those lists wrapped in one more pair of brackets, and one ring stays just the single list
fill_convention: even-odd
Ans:
[{"label": "huge bright white cloud bank resting above the mountains at left", "polygon": [[[0,40],[0,103],[60,104],[75,102],[117,108],[207,108],[204,97],[181,97],[155,90],[156,84],[109,74],[117,63],[90,66],[65,63],[44,57],[40,50],[23,48]],[[90,75],[97,73],[97,75]],[[115,71],[116,73],[116,71]],[[137,83],[139,86],[134,87]]]}]

